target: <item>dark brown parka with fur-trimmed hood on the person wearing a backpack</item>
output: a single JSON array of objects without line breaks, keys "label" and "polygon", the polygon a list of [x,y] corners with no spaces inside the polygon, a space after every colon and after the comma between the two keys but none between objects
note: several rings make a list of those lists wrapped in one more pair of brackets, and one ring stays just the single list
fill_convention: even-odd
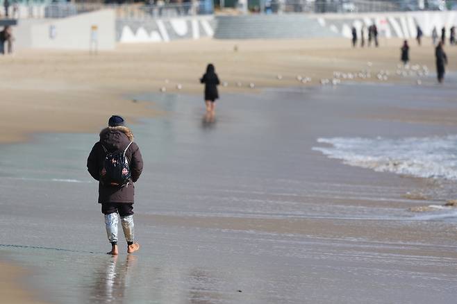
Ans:
[{"label": "dark brown parka with fur-trimmed hood on the person wearing a backpack", "polygon": [[[131,171],[131,181],[135,183],[143,170],[143,160],[138,145],[133,142],[131,130],[125,126],[104,128],[100,132],[100,141],[96,142],[88,158],[88,171],[96,180],[100,180],[100,171],[106,152],[124,151],[128,144],[126,158]],[[103,146],[102,146],[103,144]],[[113,187],[99,183],[99,203],[133,203],[135,185],[129,183],[124,187]]]}]

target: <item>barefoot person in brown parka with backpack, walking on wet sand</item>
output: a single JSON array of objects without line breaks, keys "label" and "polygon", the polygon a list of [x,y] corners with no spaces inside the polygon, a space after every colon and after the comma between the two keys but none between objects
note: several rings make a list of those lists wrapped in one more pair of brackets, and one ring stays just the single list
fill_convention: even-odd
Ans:
[{"label": "barefoot person in brown parka with backpack, walking on wet sand", "polygon": [[119,253],[117,248],[117,223],[121,218],[122,230],[127,241],[127,253],[138,251],[134,242],[133,197],[134,183],[140,178],[143,160],[133,133],[125,126],[124,118],[113,115],[108,128],[100,132],[88,157],[88,171],[99,180],[99,203],[105,217],[106,234],[111,243],[110,255]]}]

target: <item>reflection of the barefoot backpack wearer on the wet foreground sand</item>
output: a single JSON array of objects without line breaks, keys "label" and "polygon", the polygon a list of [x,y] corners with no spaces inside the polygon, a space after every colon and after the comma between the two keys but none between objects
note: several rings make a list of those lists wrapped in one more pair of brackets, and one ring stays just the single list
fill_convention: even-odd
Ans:
[{"label": "reflection of the barefoot backpack wearer on the wet foreground sand", "polygon": [[124,302],[126,289],[137,264],[137,257],[127,255],[124,262],[118,262],[118,259],[118,255],[113,255],[94,272],[94,285],[90,294],[90,302]]}]

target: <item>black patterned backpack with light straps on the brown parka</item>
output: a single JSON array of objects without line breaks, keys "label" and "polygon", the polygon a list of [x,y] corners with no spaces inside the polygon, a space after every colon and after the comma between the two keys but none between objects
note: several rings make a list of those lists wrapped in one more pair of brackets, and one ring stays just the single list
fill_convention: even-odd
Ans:
[{"label": "black patterned backpack with light straps on the brown parka", "polygon": [[130,166],[126,158],[126,151],[128,147],[132,144],[128,144],[124,151],[115,151],[113,153],[108,152],[108,150],[103,146],[106,156],[103,159],[103,167],[100,171],[100,181],[103,185],[112,185],[112,186],[127,186],[130,182]]}]

